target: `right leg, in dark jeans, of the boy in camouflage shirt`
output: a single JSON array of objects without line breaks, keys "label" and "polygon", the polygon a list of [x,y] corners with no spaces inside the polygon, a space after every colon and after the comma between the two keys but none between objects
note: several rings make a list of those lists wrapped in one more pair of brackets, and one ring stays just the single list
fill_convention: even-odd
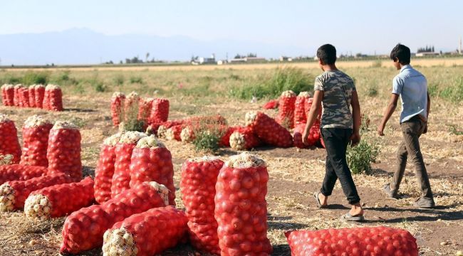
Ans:
[{"label": "right leg, in dark jeans, of the boy in camouflage shirt", "polygon": [[[323,133],[328,139],[328,143],[325,140],[326,151],[330,163],[333,167],[335,175],[338,176],[339,182],[343,188],[343,192],[348,199],[348,202],[351,205],[360,202],[360,197],[357,193],[357,188],[355,188],[355,183],[353,181],[352,175],[350,174],[350,169],[345,159],[345,152],[347,150],[348,140],[350,134],[352,134],[351,129],[324,129]],[[323,139],[325,139],[323,137]]]}]

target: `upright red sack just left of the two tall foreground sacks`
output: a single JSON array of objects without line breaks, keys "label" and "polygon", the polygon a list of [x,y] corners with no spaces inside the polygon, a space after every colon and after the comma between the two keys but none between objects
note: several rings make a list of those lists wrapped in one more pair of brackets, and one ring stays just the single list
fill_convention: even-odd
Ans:
[{"label": "upright red sack just left of the two tall foreground sacks", "polygon": [[172,155],[154,135],[141,138],[130,159],[130,188],[145,181],[156,181],[166,186],[171,192],[169,204],[175,206]]}]

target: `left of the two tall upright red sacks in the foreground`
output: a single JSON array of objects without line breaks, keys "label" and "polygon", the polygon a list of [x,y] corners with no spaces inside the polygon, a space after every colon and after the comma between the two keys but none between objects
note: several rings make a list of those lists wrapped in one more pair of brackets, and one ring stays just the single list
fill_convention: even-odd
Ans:
[{"label": "left of the two tall upright red sacks in the foreground", "polygon": [[224,162],[217,157],[188,159],[182,166],[180,190],[188,217],[189,240],[198,250],[220,255],[214,196]]}]

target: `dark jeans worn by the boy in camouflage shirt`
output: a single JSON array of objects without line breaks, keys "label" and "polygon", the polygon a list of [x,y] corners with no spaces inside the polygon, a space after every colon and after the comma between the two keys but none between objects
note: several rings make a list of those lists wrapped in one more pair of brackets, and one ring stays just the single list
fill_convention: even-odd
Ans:
[{"label": "dark jeans worn by the boy in camouflage shirt", "polygon": [[352,129],[321,129],[321,136],[323,142],[325,142],[327,154],[326,173],[320,192],[323,196],[331,196],[336,180],[339,178],[344,195],[347,197],[348,202],[353,205],[360,202],[360,197],[345,159],[345,151],[347,150],[350,135],[352,135]]}]

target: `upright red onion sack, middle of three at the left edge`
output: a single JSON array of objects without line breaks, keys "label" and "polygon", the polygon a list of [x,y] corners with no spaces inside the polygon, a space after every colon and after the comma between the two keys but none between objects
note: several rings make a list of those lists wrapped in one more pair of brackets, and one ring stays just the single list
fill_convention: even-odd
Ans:
[{"label": "upright red onion sack, middle of three at the left edge", "polygon": [[46,150],[51,127],[53,124],[50,121],[38,115],[26,119],[23,127],[23,154],[20,164],[48,166]]}]

